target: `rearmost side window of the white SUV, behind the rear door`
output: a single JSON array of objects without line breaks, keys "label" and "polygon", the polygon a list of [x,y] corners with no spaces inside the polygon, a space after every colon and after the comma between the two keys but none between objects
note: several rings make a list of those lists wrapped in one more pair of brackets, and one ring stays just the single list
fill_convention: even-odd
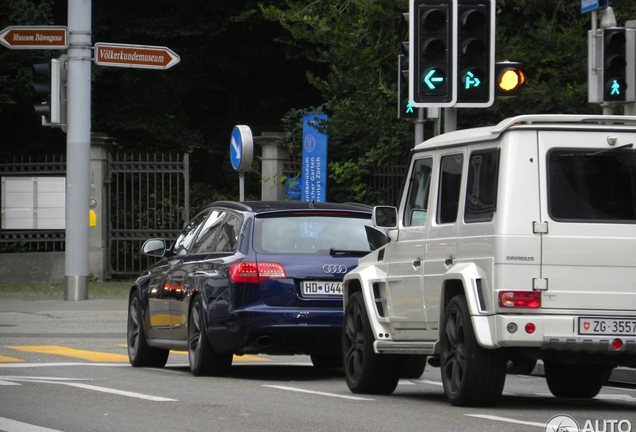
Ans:
[{"label": "rearmost side window of the white SUV, behind the rear door", "polygon": [[497,209],[499,149],[472,153],[466,181],[464,220],[466,223],[491,221]]}]

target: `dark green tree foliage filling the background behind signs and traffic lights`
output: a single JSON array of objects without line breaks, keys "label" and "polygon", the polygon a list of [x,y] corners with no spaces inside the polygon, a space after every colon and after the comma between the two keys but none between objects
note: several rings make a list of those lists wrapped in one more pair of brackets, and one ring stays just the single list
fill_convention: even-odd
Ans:
[{"label": "dark green tree foliage filling the background behind signs and traffic lights", "polygon": [[[613,0],[619,26],[636,3]],[[590,14],[577,0],[497,0],[497,59],[521,61],[521,97],[461,109],[458,127],[524,113],[597,113],[587,103]],[[3,0],[0,28],[66,25],[65,0]],[[167,46],[166,71],[93,66],[92,130],[134,152],[193,153],[197,195],[236,198],[229,163],[234,125],[284,132],[297,154],[302,114],[325,112],[331,200],[367,200],[373,166],[403,164],[411,121],[396,118],[397,56],[408,0],[93,0],[93,42]],[[66,136],[33,113],[31,64],[63,52],[0,47],[0,158],[63,153]],[[620,112],[620,107],[617,108]],[[430,123],[426,137],[432,135]],[[257,172],[248,196],[258,196]]]}]

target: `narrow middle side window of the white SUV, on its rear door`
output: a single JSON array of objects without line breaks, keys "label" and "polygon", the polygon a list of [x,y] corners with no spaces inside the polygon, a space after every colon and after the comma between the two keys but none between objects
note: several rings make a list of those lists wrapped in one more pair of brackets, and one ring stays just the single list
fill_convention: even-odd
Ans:
[{"label": "narrow middle side window of the white SUV, on its rear door", "polygon": [[462,154],[442,158],[437,206],[438,224],[454,223],[457,220],[463,160],[464,155]]}]

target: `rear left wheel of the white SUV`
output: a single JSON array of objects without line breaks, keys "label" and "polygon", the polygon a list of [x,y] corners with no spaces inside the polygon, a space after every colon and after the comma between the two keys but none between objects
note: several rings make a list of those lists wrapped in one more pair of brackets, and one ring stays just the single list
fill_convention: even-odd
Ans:
[{"label": "rear left wheel of the white SUV", "polygon": [[481,347],[475,338],[464,296],[446,307],[441,334],[442,383],[455,406],[494,406],[506,381],[506,359],[500,350]]}]

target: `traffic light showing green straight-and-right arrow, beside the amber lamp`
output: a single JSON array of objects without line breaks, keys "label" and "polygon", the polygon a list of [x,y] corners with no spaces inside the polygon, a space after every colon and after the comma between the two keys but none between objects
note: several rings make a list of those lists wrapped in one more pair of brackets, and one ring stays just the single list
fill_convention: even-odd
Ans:
[{"label": "traffic light showing green straight-and-right arrow, beside the amber lamp", "polygon": [[494,102],[495,1],[458,0],[456,107]]}]

